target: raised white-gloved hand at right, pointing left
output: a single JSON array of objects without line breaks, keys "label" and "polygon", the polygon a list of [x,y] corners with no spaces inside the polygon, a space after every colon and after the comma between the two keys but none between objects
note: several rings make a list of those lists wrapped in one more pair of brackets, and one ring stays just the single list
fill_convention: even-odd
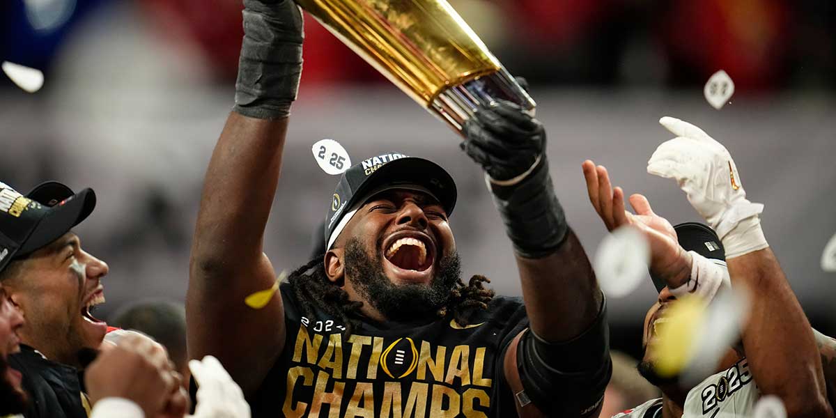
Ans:
[{"label": "raised white-gloved hand at right, pointing left", "polygon": [[722,239],[739,222],[763,211],[746,198],[740,175],[726,147],[684,120],[665,116],[662,126],[676,135],[655,150],[647,172],[674,179],[688,201]]}]

